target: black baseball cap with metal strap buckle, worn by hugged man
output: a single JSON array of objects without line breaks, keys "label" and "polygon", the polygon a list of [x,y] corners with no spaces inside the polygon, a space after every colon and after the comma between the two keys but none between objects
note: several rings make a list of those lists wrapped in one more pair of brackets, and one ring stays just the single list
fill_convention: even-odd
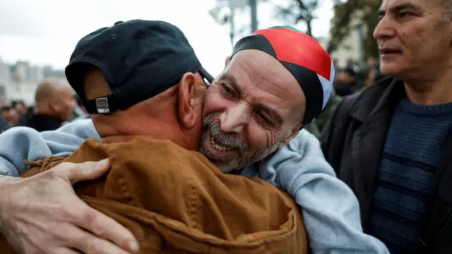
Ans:
[{"label": "black baseball cap with metal strap buckle, worn by hugged man", "polygon": [[[102,72],[112,95],[86,99],[83,80],[90,65]],[[118,21],[91,32],[76,45],[65,72],[90,114],[127,109],[177,85],[187,72],[213,82],[184,33],[159,20]]]}]

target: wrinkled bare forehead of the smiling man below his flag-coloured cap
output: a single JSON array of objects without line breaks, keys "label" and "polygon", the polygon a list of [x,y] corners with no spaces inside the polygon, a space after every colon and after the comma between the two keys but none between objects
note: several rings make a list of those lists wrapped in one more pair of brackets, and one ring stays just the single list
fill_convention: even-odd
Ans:
[{"label": "wrinkled bare forehead of the smiling man below his flag-coloured cap", "polygon": [[297,80],[273,56],[254,53],[237,53],[218,77],[219,83],[231,87],[250,107],[264,105],[278,112],[283,122],[298,119],[305,98]]}]

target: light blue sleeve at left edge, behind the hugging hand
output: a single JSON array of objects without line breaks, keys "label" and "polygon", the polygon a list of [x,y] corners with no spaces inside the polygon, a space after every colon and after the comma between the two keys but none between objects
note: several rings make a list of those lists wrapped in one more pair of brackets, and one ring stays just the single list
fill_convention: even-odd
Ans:
[{"label": "light blue sleeve at left edge, behind the hugging hand", "polygon": [[88,138],[100,139],[91,119],[42,133],[28,127],[10,128],[0,134],[0,175],[18,176],[27,169],[23,159],[35,161],[51,155],[69,156]]}]

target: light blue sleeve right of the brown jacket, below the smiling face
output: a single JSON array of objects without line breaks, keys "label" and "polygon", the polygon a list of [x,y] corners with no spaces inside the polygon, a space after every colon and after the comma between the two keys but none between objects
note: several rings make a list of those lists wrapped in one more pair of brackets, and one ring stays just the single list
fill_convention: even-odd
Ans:
[{"label": "light blue sleeve right of the brown jacket, below the smiling face", "polygon": [[[252,169],[244,171],[252,175]],[[364,234],[359,204],[326,162],[319,140],[302,130],[273,156],[254,164],[254,172],[287,191],[302,208],[314,254],[389,253],[378,239]]]}]

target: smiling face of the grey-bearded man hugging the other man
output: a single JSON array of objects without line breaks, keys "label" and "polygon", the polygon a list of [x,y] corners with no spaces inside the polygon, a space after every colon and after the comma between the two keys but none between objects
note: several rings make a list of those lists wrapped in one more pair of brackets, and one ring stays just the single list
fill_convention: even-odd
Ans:
[{"label": "smiling face of the grey-bearded man hugging the other man", "polygon": [[239,52],[206,93],[200,152],[223,172],[244,167],[295,137],[304,109],[302,88],[278,60]]}]

